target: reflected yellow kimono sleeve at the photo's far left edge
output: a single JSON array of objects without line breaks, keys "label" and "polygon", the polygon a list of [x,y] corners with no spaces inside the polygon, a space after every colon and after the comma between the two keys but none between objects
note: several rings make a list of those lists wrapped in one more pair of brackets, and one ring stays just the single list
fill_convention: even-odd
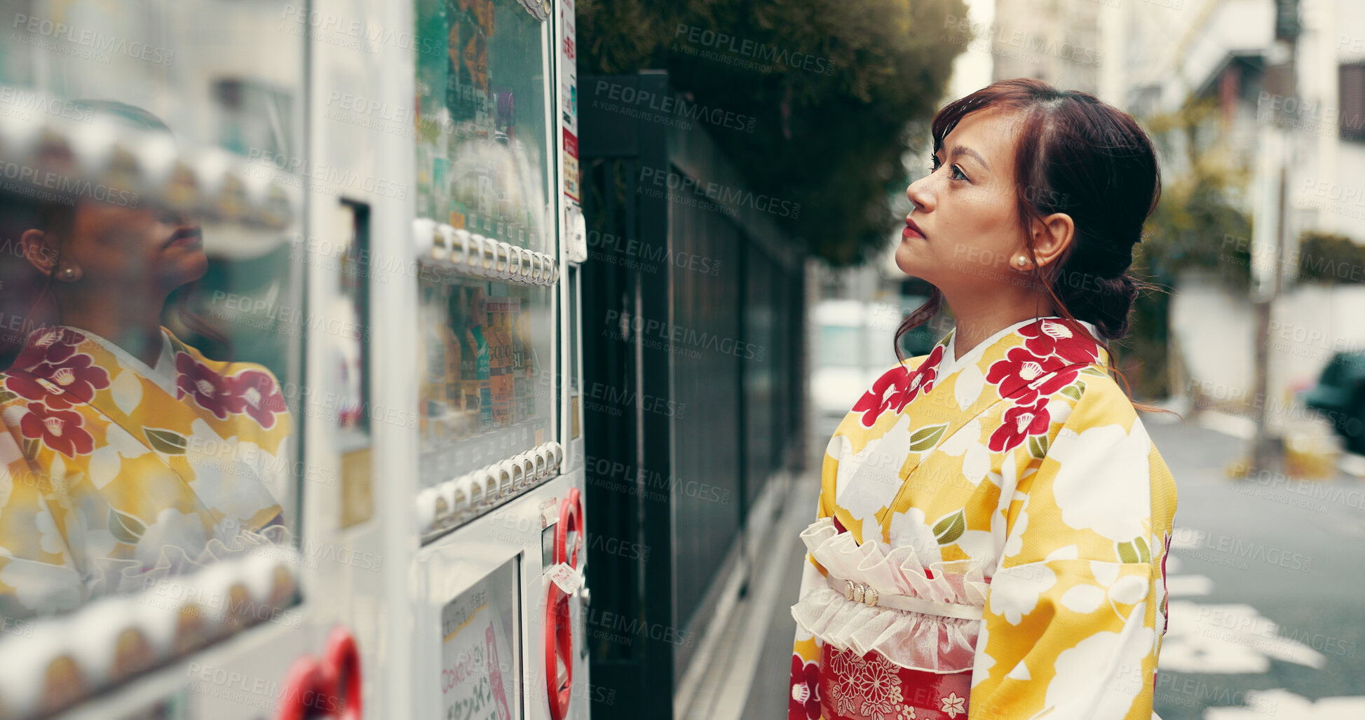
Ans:
[{"label": "reflected yellow kimono sleeve at the photo's far left edge", "polygon": [[57,518],[59,493],[46,473],[23,455],[8,421],[25,410],[11,403],[0,425],[0,620],[72,609],[83,600]]}]

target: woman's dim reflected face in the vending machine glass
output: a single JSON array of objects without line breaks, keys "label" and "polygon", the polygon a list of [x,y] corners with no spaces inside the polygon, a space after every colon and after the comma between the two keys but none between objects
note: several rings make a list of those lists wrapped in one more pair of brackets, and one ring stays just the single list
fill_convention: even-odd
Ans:
[{"label": "woman's dim reflected face in the vending machine glass", "polygon": [[63,240],[61,264],[91,286],[169,292],[209,266],[198,223],[169,210],[79,202]]}]

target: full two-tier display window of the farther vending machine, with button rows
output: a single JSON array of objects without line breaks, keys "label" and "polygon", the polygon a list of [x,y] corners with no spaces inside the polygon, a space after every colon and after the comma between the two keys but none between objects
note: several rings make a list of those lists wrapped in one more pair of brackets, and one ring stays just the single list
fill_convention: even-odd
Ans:
[{"label": "full two-tier display window of the farther vending machine, with button rows", "polygon": [[423,534],[545,477],[560,268],[542,3],[418,0]]}]

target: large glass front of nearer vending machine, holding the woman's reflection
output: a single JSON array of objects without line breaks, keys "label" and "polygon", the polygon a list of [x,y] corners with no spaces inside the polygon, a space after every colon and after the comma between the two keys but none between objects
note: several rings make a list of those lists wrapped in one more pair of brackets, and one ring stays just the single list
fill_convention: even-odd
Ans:
[{"label": "large glass front of nearer vending machine, holding the woman's reflection", "polygon": [[16,5],[0,623],[31,624],[0,706],[26,716],[293,604],[310,320],[303,38],[255,42],[278,5]]}]

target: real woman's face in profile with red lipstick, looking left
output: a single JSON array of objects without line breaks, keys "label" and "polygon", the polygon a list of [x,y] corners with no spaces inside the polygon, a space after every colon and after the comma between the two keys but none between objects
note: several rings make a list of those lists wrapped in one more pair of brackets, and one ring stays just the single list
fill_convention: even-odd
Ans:
[{"label": "real woman's face in profile with red lipstick, looking left", "polygon": [[1024,251],[1013,120],[994,109],[968,113],[943,138],[934,160],[938,169],[905,190],[913,208],[895,264],[950,299],[998,290],[1018,269],[1010,266]]}]

